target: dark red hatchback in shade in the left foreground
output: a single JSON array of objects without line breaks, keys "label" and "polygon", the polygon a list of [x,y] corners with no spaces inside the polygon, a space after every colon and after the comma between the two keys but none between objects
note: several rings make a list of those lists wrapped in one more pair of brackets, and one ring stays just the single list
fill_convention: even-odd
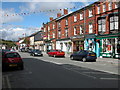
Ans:
[{"label": "dark red hatchback in shade in the left foreground", "polygon": [[2,52],[2,69],[7,70],[9,68],[24,69],[23,60],[17,52],[6,51]]}]

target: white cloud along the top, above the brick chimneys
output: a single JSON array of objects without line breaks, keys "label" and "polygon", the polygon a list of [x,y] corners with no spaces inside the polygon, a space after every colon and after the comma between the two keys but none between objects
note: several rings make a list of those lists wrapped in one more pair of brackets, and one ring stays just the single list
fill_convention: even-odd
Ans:
[{"label": "white cloud along the top, above the brick chimneys", "polygon": [[[32,2],[27,2],[26,6],[20,6],[20,9],[22,12],[43,11],[49,17],[56,17],[58,12],[63,14],[64,8],[73,8],[74,6],[75,4],[70,2],[36,2],[36,0],[32,0]],[[50,12],[50,10],[54,11]]]}]

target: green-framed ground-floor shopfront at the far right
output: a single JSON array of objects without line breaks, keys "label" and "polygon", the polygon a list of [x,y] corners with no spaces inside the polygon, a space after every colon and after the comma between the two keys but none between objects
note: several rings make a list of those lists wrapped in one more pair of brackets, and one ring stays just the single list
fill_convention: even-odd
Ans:
[{"label": "green-framed ground-floor shopfront at the far right", "polygon": [[120,33],[97,36],[96,47],[99,57],[119,58]]}]

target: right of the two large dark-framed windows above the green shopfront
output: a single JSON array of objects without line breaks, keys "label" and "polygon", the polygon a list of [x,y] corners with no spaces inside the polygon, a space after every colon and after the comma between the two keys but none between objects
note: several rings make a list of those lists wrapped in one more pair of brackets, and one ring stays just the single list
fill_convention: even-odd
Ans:
[{"label": "right of the two large dark-framed windows above the green shopfront", "polygon": [[118,16],[110,17],[110,30],[118,29]]}]

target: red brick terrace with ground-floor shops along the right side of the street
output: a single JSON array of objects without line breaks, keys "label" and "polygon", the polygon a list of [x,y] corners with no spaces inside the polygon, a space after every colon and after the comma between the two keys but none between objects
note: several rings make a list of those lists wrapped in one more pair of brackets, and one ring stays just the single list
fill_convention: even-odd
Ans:
[{"label": "red brick terrace with ground-floor shops along the right side of the street", "polygon": [[98,57],[119,57],[118,10],[118,2],[95,2],[69,14],[64,9],[64,15],[58,13],[57,18],[43,25],[49,49],[85,49]]}]

